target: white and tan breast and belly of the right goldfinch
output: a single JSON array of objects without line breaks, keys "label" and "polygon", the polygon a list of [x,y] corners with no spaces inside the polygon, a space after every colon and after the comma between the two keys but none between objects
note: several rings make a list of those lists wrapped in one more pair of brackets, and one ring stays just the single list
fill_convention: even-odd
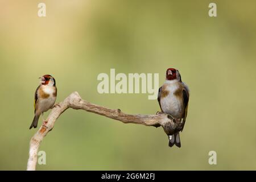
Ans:
[{"label": "white and tan breast and belly of the right goldfinch", "polygon": [[[181,84],[176,80],[167,80],[162,86],[162,97],[160,98],[162,110],[175,118],[182,118],[184,113]],[[179,92],[181,93],[179,94]],[[168,94],[163,97],[163,93]]]}]

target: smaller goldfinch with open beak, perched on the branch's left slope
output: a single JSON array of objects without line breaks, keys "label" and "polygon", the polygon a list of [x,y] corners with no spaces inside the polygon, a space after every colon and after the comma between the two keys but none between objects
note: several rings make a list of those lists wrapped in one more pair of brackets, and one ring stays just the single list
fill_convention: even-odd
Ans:
[{"label": "smaller goldfinch with open beak, perched on the branch's left slope", "polygon": [[35,92],[35,117],[30,129],[38,126],[40,115],[53,107],[57,96],[55,79],[51,75],[44,75],[40,79],[40,85]]}]

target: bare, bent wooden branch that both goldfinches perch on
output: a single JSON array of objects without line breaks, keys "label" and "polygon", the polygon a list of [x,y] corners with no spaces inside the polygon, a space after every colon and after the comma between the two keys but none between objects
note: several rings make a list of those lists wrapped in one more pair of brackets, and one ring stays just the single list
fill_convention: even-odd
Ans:
[{"label": "bare, bent wooden branch that both goldfinches perch on", "polygon": [[35,170],[37,162],[37,154],[40,143],[47,133],[53,129],[54,123],[59,118],[60,114],[66,109],[82,109],[91,113],[104,115],[123,123],[134,123],[145,126],[162,126],[167,135],[174,134],[182,129],[180,122],[174,122],[174,119],[168,117],[167,114],[142,115],[142,114],[125,114],[120,109],[108,109],[104,106],[91,104],[88,101],[82,100],[79,93],[71,93],[63,102],[58,104],[58,107],[53,107],[49,114],[45,125],[42,125],[36,134],[30,140],[30,151],[27,163],[27,170]]}]

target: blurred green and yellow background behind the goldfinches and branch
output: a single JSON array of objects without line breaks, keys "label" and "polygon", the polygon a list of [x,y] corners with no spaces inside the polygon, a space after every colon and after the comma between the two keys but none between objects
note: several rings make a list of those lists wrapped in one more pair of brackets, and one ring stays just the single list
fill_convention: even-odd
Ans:
[{"label": "blurred green and yellow background behind the goldfinches and branch", "polygon": [[[255,13],[255,1],[0,1],[0,169],[26,169],[39,76],[55,77],[57,102],[77,91],[125,113],[155,114],[148,94],[99,94],[97,76],[159,73],[160,86],[174,67],[191,90],[181,148],[168,147],[160,127],[69,109],[44,138],[47,164],[37,169],[255,170]],[[212,150],[217,165],[208,163]]]}]

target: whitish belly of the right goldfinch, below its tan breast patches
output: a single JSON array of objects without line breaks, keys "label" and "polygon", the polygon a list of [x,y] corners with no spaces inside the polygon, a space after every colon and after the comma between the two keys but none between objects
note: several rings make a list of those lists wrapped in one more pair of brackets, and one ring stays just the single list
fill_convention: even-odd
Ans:
[{"label": "whitish belly of the right goldfinch, below its tan breast patches", "polygon": [[170,114],[175,118],[182,118],[184,106],[182,100],[174,94],[169,94],[160,101],[163,113]]}]

